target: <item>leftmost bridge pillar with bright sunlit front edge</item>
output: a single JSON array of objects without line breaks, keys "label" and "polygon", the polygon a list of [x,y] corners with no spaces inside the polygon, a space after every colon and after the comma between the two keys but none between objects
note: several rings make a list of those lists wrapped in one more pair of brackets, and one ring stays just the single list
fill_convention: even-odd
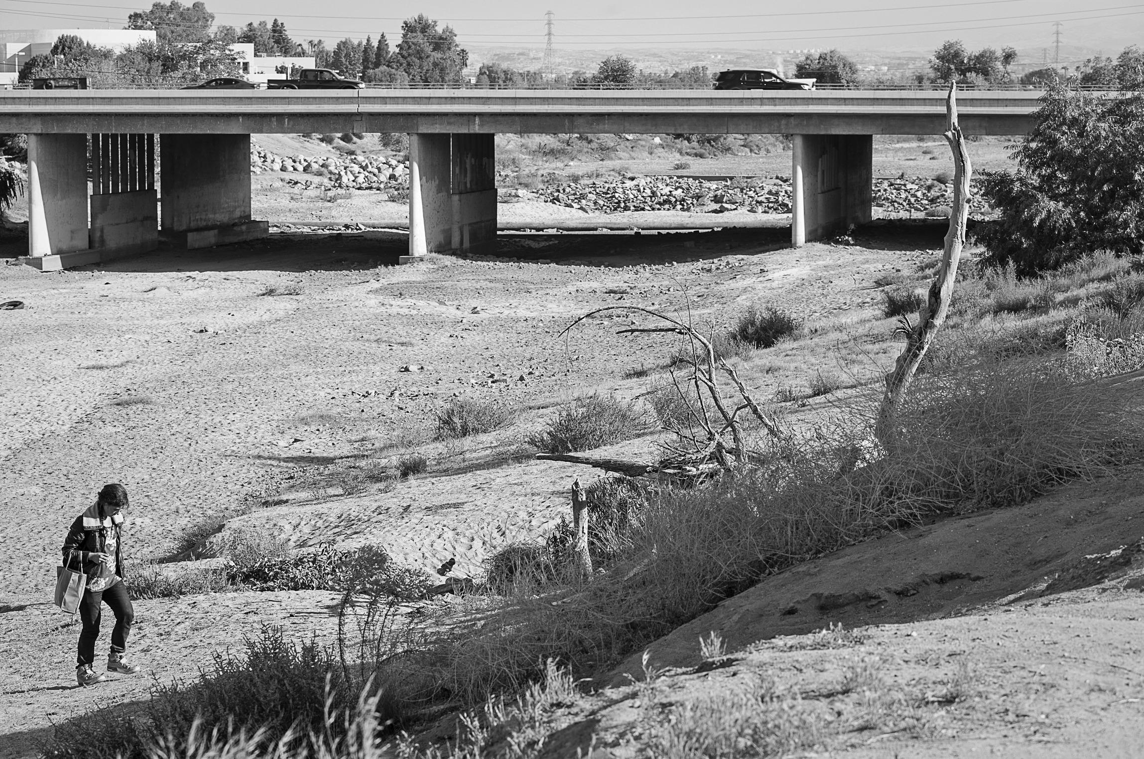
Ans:
[{"label": "leftmost bridge pillar with bright sunlit front edge", "polygon": [[27,258],[45,271],[95,263],[88,250],[87,135],[27,135]]}]

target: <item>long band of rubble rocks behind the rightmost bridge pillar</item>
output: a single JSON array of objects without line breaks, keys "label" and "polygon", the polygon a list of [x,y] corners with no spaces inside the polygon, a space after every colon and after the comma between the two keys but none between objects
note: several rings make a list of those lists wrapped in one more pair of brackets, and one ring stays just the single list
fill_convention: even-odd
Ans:
[{"label": "long band of rubble rocks behind the rightmost bridge pillar", "polygon": [[[974,211],[985,209],[976,188]],[[625,180],[569,182],[535,191],[540,200],[588,213],[689,211],[723,213],[791,213],[791,180],[708,182],[685,176],[629,176]],[[874,180],[874,205],[895,213],[940,209],[953,204],[953,185],[923,177]]]}]

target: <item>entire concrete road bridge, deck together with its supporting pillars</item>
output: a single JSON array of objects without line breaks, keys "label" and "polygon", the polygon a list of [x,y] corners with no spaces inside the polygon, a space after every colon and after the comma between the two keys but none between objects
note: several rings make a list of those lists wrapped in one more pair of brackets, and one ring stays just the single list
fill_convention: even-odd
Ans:
[{"label": "entire concrete road bridge, deck together with its supporting pillars", "polygon": [[[962,129],[1024,134],[1039,96],[959,93]],[[494,243],[500,132],[793,135],[797,246],[869,221],[873,135],[944,128],[937,92],[0,92],[0,133],[29,135],[27,260],[42,269],[152,250],[160,231],[188,247],[264,236],[252,134],[408,133],[416,256]]]}]

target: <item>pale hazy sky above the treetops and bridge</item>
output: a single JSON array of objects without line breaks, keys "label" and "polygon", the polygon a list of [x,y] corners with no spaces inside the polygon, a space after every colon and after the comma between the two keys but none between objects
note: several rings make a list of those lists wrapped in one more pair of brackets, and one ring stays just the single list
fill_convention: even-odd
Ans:
[{"label": "pale hazy sky above the treetops and bridge", "polygon": [[[185,0],[189,5],[191,0]],[[545,11],[554,13],[557,48],[932,49],[946,39],[983,45],[1104,48],[1144,42],[1144,3],[1127,0],[808,0],[807,2],[683,2],[682,0],[206,0],[216,23],[241,25],[278,17],[295,39],[376,37],[396,42],[400,19],[419,13],[453,25],[462,45],[540,47]],[[0,0],[0,29],[121,27],[133,0]],[[704,15],[706,14],[709,15]]]}]

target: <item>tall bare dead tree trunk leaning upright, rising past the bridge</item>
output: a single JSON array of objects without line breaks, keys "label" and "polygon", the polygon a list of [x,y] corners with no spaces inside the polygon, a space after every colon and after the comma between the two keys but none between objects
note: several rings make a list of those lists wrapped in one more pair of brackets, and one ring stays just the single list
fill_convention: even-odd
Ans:
[{"label": "tall bare dead tree trunk leaning upright, rising past the bridge", "polygon": [[882,396],[882,408],[874,430],[879,442],[890,443],[897,434],[896,417],[901,408],[901,401],[909,390],[909,384],[917,372],[925,351],[934,342],[934,337],[945,322],[950,311],[950,299],[953,297],[953,282],[958,276],[958,262],[961,260],[961,248],[966,245],[966,228],[969,223],[969,177],[972,166],[969,152],[966,150],[966,137],[958,125],[958,86],[950,85],[950,94],[945,101],[946,131],[945,140],[953,152],[953,211],[950,214],[950,231],[945,235],[945,251],[929,288],[929,298],[917,316],[917,324],[909,324],[903,318],[901,332],[906,335],[906,346],[898,356],[893,371],[885,377],[885,393]]}]

